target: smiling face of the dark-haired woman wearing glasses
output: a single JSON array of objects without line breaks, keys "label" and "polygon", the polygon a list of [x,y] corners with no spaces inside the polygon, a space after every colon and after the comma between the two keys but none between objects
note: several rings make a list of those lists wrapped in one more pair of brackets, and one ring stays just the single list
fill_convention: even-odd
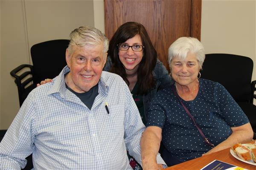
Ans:
[{"label": "smiling face of the dark-haired woman wearing glasses", "polygon": [[[127,45],[143,45],[140,35],[135,35],[134,37],[126,40],[123,44]],[[142,51],[133,51],[131,47],[127,51],[119,50],[119,59],[125,67],[126,73],[135,73],[139,67],[139,64],[143,57]]]}]

